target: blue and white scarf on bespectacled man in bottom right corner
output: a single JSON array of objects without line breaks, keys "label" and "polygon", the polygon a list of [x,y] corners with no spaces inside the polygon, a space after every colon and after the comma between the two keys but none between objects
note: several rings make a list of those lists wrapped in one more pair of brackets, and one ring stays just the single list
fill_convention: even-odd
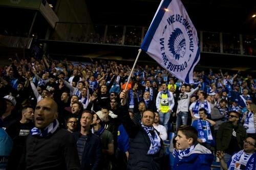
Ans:
[{"label": "blue and white scarf on bespectacled man in bottom right corner", "polygon": [[[234,169],[234,167],[236,166],[236,162],[240,160],[243,153],[244,153],[244,150],[234,154],[234,158],[231,160],[228,170]],[[246,163],[245,170],[249,170],[249,169],[256,169],[256,153],[255,152],[250,156],[248,162]]]}]

